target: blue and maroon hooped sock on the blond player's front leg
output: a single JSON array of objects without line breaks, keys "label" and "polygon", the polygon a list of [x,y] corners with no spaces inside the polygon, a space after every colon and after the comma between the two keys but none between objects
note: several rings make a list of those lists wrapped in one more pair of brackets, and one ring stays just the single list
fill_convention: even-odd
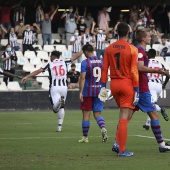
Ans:
[{"label": "blue and maroon hooped sock on the blond player's front leg", "polygon": [[159,120],[151,120],[151,128],[152,128],[152,131],[155,135],[155,138],[156,138],[158,144],[162,143],[163,139],[162,139],[161,128],[159,125]]}]

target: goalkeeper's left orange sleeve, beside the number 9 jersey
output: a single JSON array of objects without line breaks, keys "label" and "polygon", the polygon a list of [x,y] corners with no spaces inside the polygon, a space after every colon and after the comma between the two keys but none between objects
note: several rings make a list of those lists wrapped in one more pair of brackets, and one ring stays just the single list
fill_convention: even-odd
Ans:
[{"label": "goalkeeper's left orange sleeve, beside the number 9 jersey", "polygon": [[106,83],[108,78],[108,68],[109,68],[109,53],[108,48],[105,50],[104,60],[103,60],[103,68],[102,68],[102,78],[101,82]]}]

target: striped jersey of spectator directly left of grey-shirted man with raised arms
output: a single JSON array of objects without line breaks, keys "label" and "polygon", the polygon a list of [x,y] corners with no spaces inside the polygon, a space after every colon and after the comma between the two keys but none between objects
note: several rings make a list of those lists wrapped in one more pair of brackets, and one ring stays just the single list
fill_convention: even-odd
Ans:
[{"label": "striped jersey of spectator directly left of grey-shirted man with raised arms", "polygon": [[25,30],[23,32],[22,44],[32,45],[34,43],[34,31]]}]

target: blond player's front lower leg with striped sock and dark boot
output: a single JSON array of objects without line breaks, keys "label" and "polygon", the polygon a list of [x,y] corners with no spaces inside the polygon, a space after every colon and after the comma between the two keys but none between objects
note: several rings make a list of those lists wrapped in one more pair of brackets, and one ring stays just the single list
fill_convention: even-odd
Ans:
[{"label": "blond player's front lower leg with striped sock and dark boot", "polygon": [[148,112],[148,115],[151,118],[151,128],[159,145],[159,151],[170,151],[170,146],[167,145],[162,138],[161,127],[159,124],[159,115],[157,111]]}]

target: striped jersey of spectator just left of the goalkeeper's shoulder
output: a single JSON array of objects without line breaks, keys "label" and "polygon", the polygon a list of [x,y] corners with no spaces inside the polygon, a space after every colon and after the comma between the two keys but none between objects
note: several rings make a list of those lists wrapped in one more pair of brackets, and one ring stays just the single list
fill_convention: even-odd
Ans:
[{"label": "striped jersey of spectator just left of the goalkeeper's shoulder", "polygon": [[106,48],[105,41],[106,34],[99,34],[96,35],[96,49],[97,50],[104,50]]}]

